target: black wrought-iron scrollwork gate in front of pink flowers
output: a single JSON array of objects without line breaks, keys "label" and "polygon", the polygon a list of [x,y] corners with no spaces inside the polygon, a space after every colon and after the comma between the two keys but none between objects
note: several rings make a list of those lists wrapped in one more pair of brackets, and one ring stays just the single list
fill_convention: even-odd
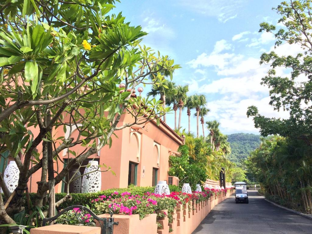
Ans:
[{"label": "black wrought-iron scrollwork gate in front of pink flowers", "polygon": [[101,218],[95,215],[90,209],[84,206],[70,206],[61,210],[56,216],[44,218],[42,226],[51,224],[67,224],[77,226],[100,227],[101,234],[113,234],[114,222],[113,212],[110,212],[109,218]]}]

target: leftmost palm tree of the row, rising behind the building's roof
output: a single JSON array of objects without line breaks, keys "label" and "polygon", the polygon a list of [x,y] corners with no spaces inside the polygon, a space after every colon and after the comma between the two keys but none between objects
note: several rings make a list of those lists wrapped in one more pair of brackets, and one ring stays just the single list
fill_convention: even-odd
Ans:
[{"label": "leftmost palm tree of the row, rising behind the building's roof", "polygon": [[[153,97],[160,95],[160,100],[163,101],[163,107],[165,108],[166,96],[174,96],[176,93],[176,84],[174,82],[165,80],[161,85],[153,84],[152,90],[147,95]],[[166,114],[163,115],[163,121],[166,122]]]}]

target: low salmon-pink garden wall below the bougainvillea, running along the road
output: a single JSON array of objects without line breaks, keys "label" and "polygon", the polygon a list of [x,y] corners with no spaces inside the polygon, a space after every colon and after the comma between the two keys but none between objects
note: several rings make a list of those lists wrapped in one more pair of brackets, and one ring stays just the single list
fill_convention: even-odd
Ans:
[{"label": "low salmon-pink garden wall below the bougainvillea, running along the road", "polygon": [[[233,189],[227,192],[212,195],[204,201],[191,200],[185,204],[176,206],[172,214],[171,223],[169,223],[168,210],[160,210],[155,214],[146,215],[140,219],[139,214],[126,215],[114,214],[114,221],[119,222],[114,225],[113,234],[191,234],[207,214],[220,202],[224,201],[233,194]],[[99,217],[109,217],[109,214],[99,215]],[[90,230],[88,230],[90,228]],[[91,230],[92,229],[92,230]],[[31,234],[100,234],[100,228],[84,227],[77,230],[70,225],[51,225],[47,227],[34,228]]]}]

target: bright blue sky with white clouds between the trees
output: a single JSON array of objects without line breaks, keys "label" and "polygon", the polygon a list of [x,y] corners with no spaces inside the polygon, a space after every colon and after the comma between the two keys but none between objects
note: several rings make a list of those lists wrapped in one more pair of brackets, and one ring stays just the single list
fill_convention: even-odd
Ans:
[{"label": "bright blue sky with white clouds between the trees", "polygon": [[[173,81],[178,85],[188,84],[188,95],[206,96],[210,112],[205,121],[219,121],[224,134],[258,134],[252,119],[246,117],[248,106],[257,106],[266,117],[288,116],[269,106],[269,88],[260,84],[270,69],[259,64],[260,56],[274,49],[275,38],[271,33],[259,33],[259,24],[277,24],[279,15],[272,7],[280,2],[121,0],[113,12],[122,12],[132,26],[141,25],[149,33],[142,44],[170,56],[182,66],[174,72]],[[276,49],[279,55],[295,54],[297,50],[287,44]],[[287,71],[280,69],[277,73],[286,75]],[[144,93],[149,91],[148,87],[144,89]],[[191,131],[196,134],[194,112]],[[167,114],[167,123],[174,127],[173,113]],[[181,125],[188,130],[186,110]]]}]

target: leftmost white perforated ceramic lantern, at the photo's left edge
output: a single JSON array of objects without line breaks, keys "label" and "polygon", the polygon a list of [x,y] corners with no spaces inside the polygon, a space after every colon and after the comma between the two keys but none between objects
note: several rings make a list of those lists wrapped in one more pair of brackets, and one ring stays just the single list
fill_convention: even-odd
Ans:
[{"label": "leftmost white perforated ceramic lantern, at the photo's left edge", "polygon": [[[15,161],[11,161],[3,173],[3,180],[10,192],[13,192],[18,184],[19,170]],[[2,192],[2,189],[1,189]]]}]

